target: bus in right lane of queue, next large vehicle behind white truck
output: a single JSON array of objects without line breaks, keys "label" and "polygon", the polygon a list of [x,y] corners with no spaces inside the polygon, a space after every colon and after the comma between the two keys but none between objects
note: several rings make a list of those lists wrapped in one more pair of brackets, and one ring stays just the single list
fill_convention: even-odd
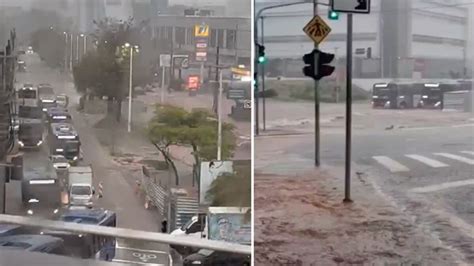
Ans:
[{"label": "bus in right lane of queue, next large vehicle behind white truck", "polygon": [[50,155],[62,155],[75,165],[81,156],[79,135],[71,124],[53,123],[48,133]]}]

